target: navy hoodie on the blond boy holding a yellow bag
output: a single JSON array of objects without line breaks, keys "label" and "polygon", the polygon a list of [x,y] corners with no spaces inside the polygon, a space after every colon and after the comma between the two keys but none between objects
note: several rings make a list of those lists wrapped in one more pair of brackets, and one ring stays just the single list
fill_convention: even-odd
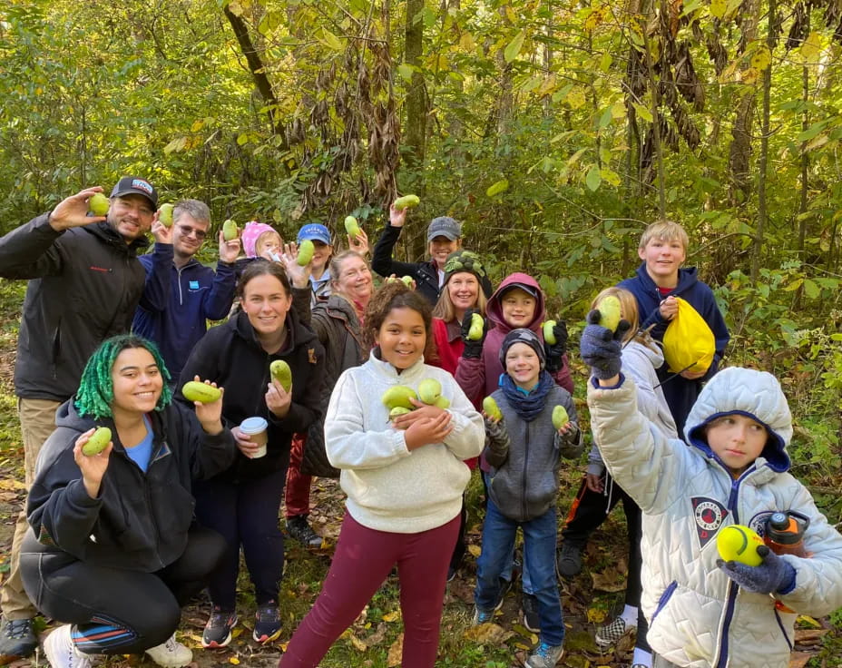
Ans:
[{"label": "navy hoodie on the blond boy holding a yellow bag", "polygon": [[713,291],[707,283],[702,282],[696,276],[696,268],[682,268],[679,270],[679,282],[667,295],[661,295],[655,281],[651,280],[646,272],[646,262],[642,262],[637,268],[637,276],[631,279],[622,280],[618,287],[629,290],[637,300],[637,308],[641,320],[641,329],[646,329],[654,324],[651,330],[652,339],[663,341],[663,334],[667,330],[669,320],[661,318],[661,301],[667,297],[680,297],[687,301],[690,306],[699,312],[699,315],[708,323],[716,341],[716,352],[713,355],[713,362],[708,372],[696,380],[683,378],[673,374],[664,364],[658,369],[658,379],[661,382],[664,398],[670,407],[672,418],[678,433],[684,433],[684,421],[690,413],[690,408],[696,403],[702,385],[710,379],[720,368],[720,359],[725,354],[725,347],[728,345],[730,334],[725,326],[725,319],[722,318],[720,307],[717,306]]}]

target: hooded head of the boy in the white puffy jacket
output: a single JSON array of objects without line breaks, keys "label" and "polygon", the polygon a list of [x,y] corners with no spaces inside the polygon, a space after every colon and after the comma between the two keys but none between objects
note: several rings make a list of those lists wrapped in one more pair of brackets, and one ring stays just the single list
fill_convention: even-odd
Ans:
[{"label": "hooded head of the boy in the white puffy jacket", "polygon": [[688,442],[716,457],[734,475],[763,457],[782,473],[792,417],[778,379],[765,371],[721,370],[702,389],[684,427]]}]

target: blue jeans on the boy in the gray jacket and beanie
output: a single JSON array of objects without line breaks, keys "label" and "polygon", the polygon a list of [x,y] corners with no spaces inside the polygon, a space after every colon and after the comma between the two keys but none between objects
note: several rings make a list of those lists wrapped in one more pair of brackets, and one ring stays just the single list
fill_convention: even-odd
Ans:
[{"label": "blue jeans on the boy in the gray jacket and beanie", "polygon": [[500,575],[511,564],[517,527],[524,530],[524,570],[529,569],[533,594],[538,599],[541,641],[550,645],[564,642],[562,600],[555,579],[555,540],[558,526],[555,507],[528,522],[504,516],[488,499],[483,523],[483,551],[476,562],[474,601],[479,610],[494,609],[500,595]]}]

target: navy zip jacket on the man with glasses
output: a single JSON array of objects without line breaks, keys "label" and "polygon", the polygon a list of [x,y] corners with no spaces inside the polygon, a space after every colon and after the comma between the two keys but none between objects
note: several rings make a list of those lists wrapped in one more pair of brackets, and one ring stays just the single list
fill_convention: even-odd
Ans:
[{"label": "navy zip jacket on the man with glasses", "polygon": [[[132,331],[161,349],[174,383],[193,346],[208,330],[207,321],[228,316],[237,277],[233,264],[219,262],[214,271],[191,258],[176,269],[172,258],[169,243],[156,243],[152,253],[139,258],[146,270],[146,286]],[[156,272],[161,264],[170,270]]]}]

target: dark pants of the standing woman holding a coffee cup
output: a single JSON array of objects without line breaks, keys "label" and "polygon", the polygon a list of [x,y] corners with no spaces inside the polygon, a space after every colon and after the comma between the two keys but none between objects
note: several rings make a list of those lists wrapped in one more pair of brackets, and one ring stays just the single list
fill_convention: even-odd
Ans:
[{"label": "dark pants of the standing woman holding a coffee cup", "polygon": [[201,526],[220,533],[228,547],[210,574],[210,600],[222,610],[237,603],[240,545],[258,605],[278,600],[284,570],[284,536],[278,528],[286,469],[239,483],[205,480],[193,484]]}]

